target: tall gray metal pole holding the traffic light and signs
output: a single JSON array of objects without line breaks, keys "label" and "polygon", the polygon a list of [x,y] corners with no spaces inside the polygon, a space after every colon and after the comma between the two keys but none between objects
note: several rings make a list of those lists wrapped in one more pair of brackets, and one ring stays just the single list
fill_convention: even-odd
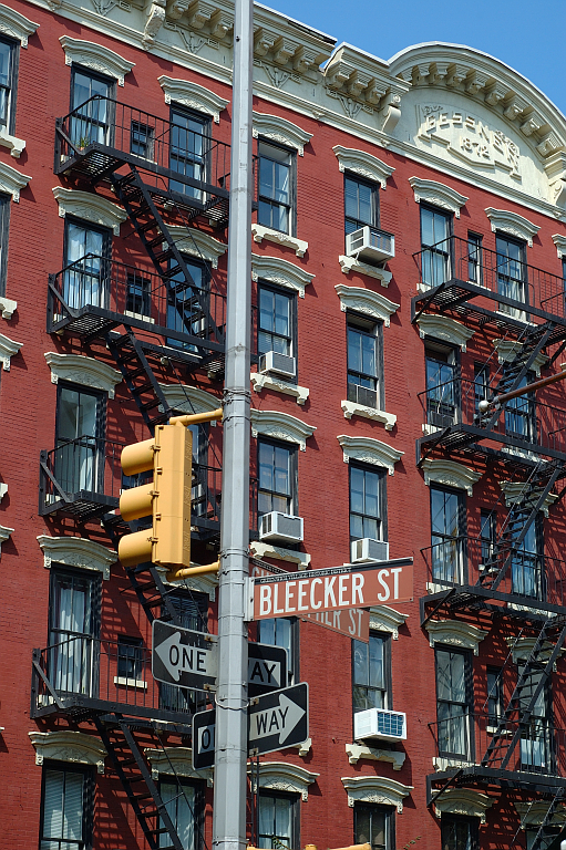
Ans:
[{"label": "tall gray metal pole holding the traffic light and signs", "polygon": [[253,0],[236,0],[213,844],[246,841]]}]

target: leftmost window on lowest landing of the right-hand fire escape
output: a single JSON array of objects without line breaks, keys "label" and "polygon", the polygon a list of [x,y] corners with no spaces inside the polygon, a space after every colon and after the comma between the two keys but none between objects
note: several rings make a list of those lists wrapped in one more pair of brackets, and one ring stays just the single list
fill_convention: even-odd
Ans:
[{"label": "leftmost window on lowest landing of the right-hand fire escape", "polygon": [[436,650],[434,654],[439,755],[471,758],[469,716],[473,690],[470,653],[445,649]]}]

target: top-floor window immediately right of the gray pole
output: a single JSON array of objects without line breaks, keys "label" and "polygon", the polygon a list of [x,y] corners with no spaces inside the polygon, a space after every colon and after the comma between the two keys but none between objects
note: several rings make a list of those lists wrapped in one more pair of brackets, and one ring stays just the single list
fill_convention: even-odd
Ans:
[{"label": "top-floor window immediately right of the gray pole", "polygon": [[264,227],[292,235],[295,154],[267,142],[259,142],[258,154],[257,221]]}]

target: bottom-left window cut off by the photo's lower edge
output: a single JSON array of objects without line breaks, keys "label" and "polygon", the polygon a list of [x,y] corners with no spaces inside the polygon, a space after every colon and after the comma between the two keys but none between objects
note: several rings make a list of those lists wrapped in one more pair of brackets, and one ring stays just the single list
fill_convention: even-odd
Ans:
[{"label": "bottom-left window cut off by the photo's lower edge", "polygon": [[44,768],[40,850],[92,846],[93,786],[91,771],[66,765]]}]

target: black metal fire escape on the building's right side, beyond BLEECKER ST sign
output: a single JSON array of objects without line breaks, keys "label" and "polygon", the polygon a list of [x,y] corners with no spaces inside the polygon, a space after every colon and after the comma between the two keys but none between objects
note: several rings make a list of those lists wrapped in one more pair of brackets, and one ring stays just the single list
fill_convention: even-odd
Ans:
[{"label": "black metal fire escape on the building's right side, beyond BLEECKER ST sign", "polygon": [[[455,381],[428,387],[421,395],[424,425],[416,463],[450,458],[518,478],[519,484],[498,532],[493,525],[490,539],[483,532],[477,540],[455,543],[453,557],[466,561],[461,580],[446,580],[435,564],[434,547],[423,550],[433,592],[421,599],[421,622],[465,612],[495,621],[502,633],[508,626],[519,634],[508,639],[512,649],[500,672],[501,707],[492,706],[491,715],[485,711],[433,725],[439,757],[445,758],[442,769],[428,776],[428,802],[451,787],[491,789],[516,799],[538,795],[547,806],[532,844],[539,850],[544,830],[566,797],[566,734],[541,708],[566,640],[566,569],[556,559],[525,553],[524,543],[547,499],[552,496],[556,505],[566,493],[566,411],[528,391],[518,402],[480,406],[478,401],[531,385],[541,355],[550,373],[556,372],[553,366],[566,348],[564,282],[495,251],[482,249],[480,256],[477,246],[466,240],[452,237],[447,242],[415,256],[420,286],[412,300],[413,321],[433,314],[474,331],[485,329],[503,338],[512,353],[491,377],[488,363],[473,380],[459,379],[457,390]],[[515,685],[507,686],[513,680]],[[503,682],[511,693],[506,703]],[[450,757],[451,750],[463,749],[467,756]],[[527,822],[528,810],[519,829]],[[513,846],[517,836],[518,830]],[[564,837],[566,829],[550,844],[553,850]]]}]

